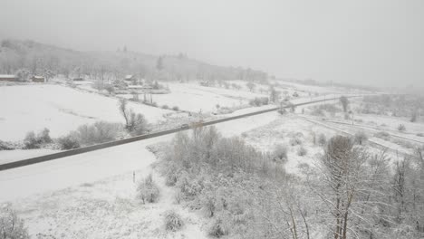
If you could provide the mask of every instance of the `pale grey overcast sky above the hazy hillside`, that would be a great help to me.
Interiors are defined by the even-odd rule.
[[[424,85],[423,0],[0,0],[0,38],[187,53],[279,77]]]

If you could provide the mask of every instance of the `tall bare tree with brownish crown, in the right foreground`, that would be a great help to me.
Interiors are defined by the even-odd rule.
[[[332,215],[329,227],[334,239],[358,237],[360,233],[372,237],[372,225],[389,221],[384,211],[388,196],[381,191],[381,176],[388,175],[386,166],[384,153],[371,158],[350,138],[329,140],[318,167],[323,188],[315,193]]]

